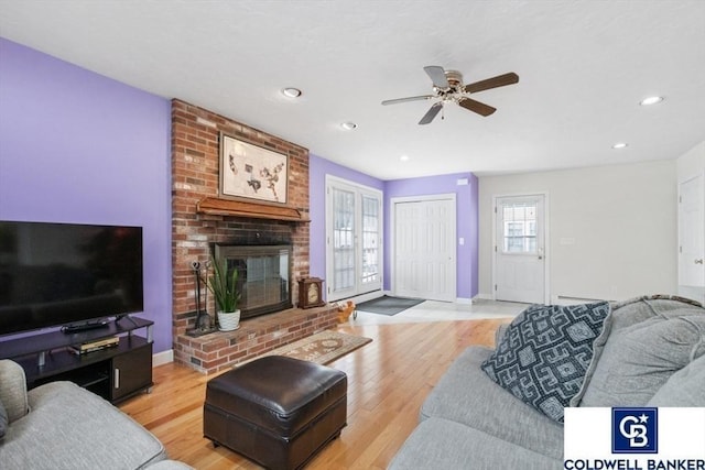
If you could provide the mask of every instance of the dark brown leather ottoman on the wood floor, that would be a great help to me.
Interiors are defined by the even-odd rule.
[[[340,435],[344,372],[283,356],[248,362],[208,381],[204,435],[270,469],[299,469]]]

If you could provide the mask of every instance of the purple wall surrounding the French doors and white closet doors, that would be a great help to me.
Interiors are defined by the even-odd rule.
[[[382,182],[340,166],[325,159],[311,155],[308,164],[311,199],[311,275],[326,276],[325,243],[325,178],[336,176],[383,192],[384,214],[384,285],[391,289],[389,258],[391,232],[390,198],[406,196],[427,196],[455,193],[457,198],[457,237],[465,238],[465,244],[457,247],[457,294],[458,298],[473,298],[478,293],[478,182],[471,173],[430,176],[423,178],[395,179]],[[457,179],[467,178],[467,186],[457,186]]]

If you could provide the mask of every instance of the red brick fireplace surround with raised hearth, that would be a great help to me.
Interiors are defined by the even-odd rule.
[[[243,217],[224,210],[198,209],[205,198],[218,197],[219,133],[289,155],[286,207],[302,220],[278,220],[261,215]],[[213,199],[212,199],[213,200]],[[272,208],[264,206],[267,211]],[[275,210],[274,210],[275,211]],[[295,280],[308,275],[308,151],[274,135],[235,122],[187,102],[172,100],[172,329],[174,361],[203,373],[215,373],[262,352],[334,328],[336,308],[292,308],[241,321],[240,328],[191,337],[196,302],[192,263],[206,262],[210,243],[227,243],[243,234],[283,237],[292,240],[292,300]],[[209,299],[213,296],[209,296]],[[213,302],[208,313],[215,318]]]

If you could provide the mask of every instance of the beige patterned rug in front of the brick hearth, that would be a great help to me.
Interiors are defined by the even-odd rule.
[[[370,341],[372,341],[370,338],[361,336],[325,330],[297,341],[290,342],[281,348],[268,351],[258,356],[256,359],[263,358],[265,356],[288,356],[290,358],[303,359],[304,361],[311,361],[317,364],[327,364],[341,358],[348,352],[355,351]]]

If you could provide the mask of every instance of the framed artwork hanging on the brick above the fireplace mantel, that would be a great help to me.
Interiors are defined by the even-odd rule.
[[[289,157],[220,132],[221,198],[286,204]]]

